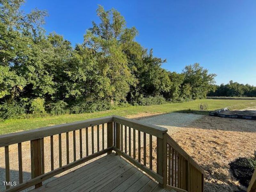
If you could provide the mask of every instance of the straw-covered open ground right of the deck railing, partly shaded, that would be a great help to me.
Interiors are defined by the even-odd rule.
[[[206,192],[246,189],[232,176],[229,163],[253,157],[256,122],[195,114],[170,113],[141,119],[168,133],[205,170]]]

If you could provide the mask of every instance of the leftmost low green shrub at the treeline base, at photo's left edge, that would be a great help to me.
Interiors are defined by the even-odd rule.
[[[2,119],[20,118],[25,113],[24,105],[17,102],[5,102],[0,106],[0,118]]]

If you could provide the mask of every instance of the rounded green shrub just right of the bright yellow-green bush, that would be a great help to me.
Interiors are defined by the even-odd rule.
[[[47,111],[51,115],[63,115],[63,114],[68,114],[69,109],[68,109],[68,103],[60,100],[57,101],[56,103],[50,103],[47,106]]]

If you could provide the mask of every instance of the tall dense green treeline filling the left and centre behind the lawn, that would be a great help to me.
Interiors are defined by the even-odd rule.
[[[97,9],[84,42],[71,46],[56,33],[46,35],[47,12],[23,14],[24,0],[1,0],[1,118],[105,110],[117,105],[150,105],[205,98],[215,74],[199,64],[182,73],[161,68],[165,62],[135,41],[115,9]]]

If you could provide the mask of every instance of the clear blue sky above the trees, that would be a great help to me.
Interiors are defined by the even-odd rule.
[[[83,42],[92,20],[99,22],[98,4],[121,12],[127,27],[138,29],[136,40],[167,59],[163,68],[181,72],[198,62],[217,74],[216,84],[256,85],[255,0],[27,0],[22,9],[47,10],[46,31],[75,45]]]

